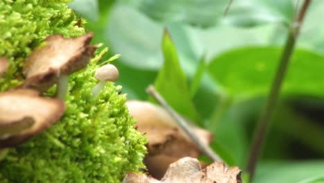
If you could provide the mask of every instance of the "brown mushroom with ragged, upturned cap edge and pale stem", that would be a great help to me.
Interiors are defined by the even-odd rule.
[[[87,66],[96,50],[90,41],[93,33],[65,39],[62,35],[46,37],[44,44],[37,47],[24,64],[26,81],[21,88],[46,91],[57,83],[57,98],[64,99],[70,73]]]

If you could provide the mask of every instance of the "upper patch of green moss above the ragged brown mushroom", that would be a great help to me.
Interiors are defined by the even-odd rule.
[[[0,55],[10,60],[10,69],[0,79],[0,91],[23,80],[21,67],[27,55],[52,34],[76,37],[84,33],[78,19],[66,6],[69,1],[0,1]],[[82,22],[80,22],[82,24]]]

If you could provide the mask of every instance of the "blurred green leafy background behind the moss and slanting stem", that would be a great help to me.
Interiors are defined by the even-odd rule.
[[[300,1],[299,5],[303,1]],[[94,42],[121,54],[129,99],[156,89],[214,133],[212,147],[244,168],[296,0],[75,0]],[[254,182],[324,181],[324,1],[312,1]],[[170,34],[165,35],[167,30]]]

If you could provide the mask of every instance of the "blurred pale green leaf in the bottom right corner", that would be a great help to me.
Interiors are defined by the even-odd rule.
[[[323,175],[324,161],[260,162],[253,183],[296,183]]]

